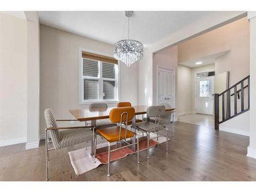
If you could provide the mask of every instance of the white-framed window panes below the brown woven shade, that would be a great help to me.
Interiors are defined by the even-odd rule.
[[[117,100],[117,65],[82,58],[83,101]]]

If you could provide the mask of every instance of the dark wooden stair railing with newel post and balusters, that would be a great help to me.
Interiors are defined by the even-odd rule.
[[[250,110],[250,75],[214,96],[215,129],[231,118]]]

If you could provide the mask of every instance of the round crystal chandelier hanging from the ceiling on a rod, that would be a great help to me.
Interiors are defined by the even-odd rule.
[[[128,17],[128,39],[116,42],[114,54],[114,57],[117,60],[123,61],[128,67],[143,58],[143,44],[137,40],[129,39],[130,17],[132,15],[133,11],[125,11],[125,16]]]

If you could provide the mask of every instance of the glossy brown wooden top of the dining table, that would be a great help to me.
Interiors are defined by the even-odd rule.
[[[133,106],[135,115],[146,114],[147,105]],[[94,108],[94,109],[79,109],[69,110],[69,112],[79,121],[91,121],[98,119],[108,119],[110,111],[116,107],[109,108]],[[165,111],[173,111],[175,108],[166,108]]]

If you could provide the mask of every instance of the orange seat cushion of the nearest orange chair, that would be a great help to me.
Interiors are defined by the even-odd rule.
[[[119,126],[114,126],[105,129],[99,129],[96,131],[99,135],[104,137],[109,142],[119,141]],[[126,138],[131,138],[134,136],[134,133],[127,130]],[[125,129],[121,127],[121,139],[125,139]]]

